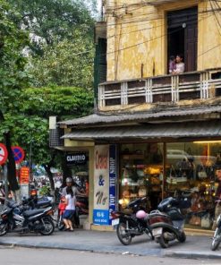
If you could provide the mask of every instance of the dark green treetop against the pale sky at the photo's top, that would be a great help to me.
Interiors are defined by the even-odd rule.
[[[72,39],[73,30],[92,38],[94,20],[89,5],[82,0],[9,0],[21,13],[21,28],[30,31],[30,50],[42,55],[42,44],[49,46],[64,38]],[[91,8],[94,10],[92,1]]]

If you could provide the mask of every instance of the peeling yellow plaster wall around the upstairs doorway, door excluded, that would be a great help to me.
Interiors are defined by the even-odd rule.
[[[177,0],[157,7],[140,0],[111,0],[106,4],[107,81],[166,74],[166,12],[197,4],[198,70],[221,66],[221,11],[217,16],[204,13],[211,10],[208,1]]]

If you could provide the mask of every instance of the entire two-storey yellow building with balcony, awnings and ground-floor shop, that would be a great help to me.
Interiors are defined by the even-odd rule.
[[[147,210],[157,209],[181,192],[191,201],[186,227],[210,229],[221,164],[221,3],[102,3],[96,112],[59,124],[63,150],[89,152],[89,227],[110,228],[111,210],[125,202],[149,196]],[[169,73],[177,55],[184,71]]]

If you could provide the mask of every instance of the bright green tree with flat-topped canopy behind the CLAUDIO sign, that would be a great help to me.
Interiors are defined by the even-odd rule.
[[[93,94],[79,88],[24,89],[19,98],[20,115],[11,116],[14,124],[13,142],[19,143],[31,161],[45,167],[52,192],[55,190],[51,167],[63,167],[64,152],[49,148],[48,117],[62,119],[89,115],[93,109]]]

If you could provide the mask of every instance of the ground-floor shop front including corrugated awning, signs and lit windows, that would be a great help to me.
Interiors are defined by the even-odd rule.
[[[148,196],[150,211],[162,199],[182,195],[191,202],[184,212],[185,227],[211,229],[216,171],[221,167],[219,119],[182,123],[148,123],[147,115],[118,119],[104,115],[76,119],[68,124],[72,131],[63,136],[94,144],[89,157],[90,228],[111,229],[111,211],[125,209],[137,198]]]

